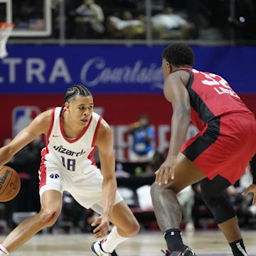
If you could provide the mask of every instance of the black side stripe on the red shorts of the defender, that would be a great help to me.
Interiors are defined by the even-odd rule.
[[[200,154],[211,146],[220,135],[220,117],[217,117],[208,123],[208,128],[202,136],[199,136],[182,153],[191,161],[194,161]]]

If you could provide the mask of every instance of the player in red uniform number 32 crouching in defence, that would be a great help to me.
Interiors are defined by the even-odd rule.
[[[242,176],[256,152],[256,120],[228,82],[192,68],[193,51],[178,43],[162,53],[164,96],[171,102],[171,140],[166,161],[156,171],[151,198],[169,256],[191,256],[183,244],[181,207],[176,194],[201,181],[203,200],[212,211],[233,255],[247,255],[238,219],[223,193]],[[190,119],[199,129],[184,143]],[[256,175],[245,194],[256,195]],[[255,198],[254,201],[255,203]]]

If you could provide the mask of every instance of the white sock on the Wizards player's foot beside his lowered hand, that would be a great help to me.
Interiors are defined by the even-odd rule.
[[[104,238],[102,240],[102,249],[105,252],[113,252],[115,247],[119,245],[119,243],[124,242],[129,238],[124,238],[119,233],[117,233],[117,227],[114,226],[110,232],[109,235],[107,235],[107,238]],[[1,256],[1,255],[0,255]]]

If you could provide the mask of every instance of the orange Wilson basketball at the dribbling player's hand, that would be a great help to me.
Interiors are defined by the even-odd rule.
[[[7,202],[18,195],[21,179],[14,169],[9,166],[0,167],[0,202]]]

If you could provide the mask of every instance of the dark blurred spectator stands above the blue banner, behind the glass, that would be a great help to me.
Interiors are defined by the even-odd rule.
[[[70,39],[144,39],[146,26],[153,39],[255,40],[253,0],[65,0],[65,37]],[[1,7],[1,6],[0,6]],[[60,1],[52,0],[53,34],[60,36]],[[0,8],[1,16],[1,8]],[[14,25],[43,28],[43,1],[14,1]]]

